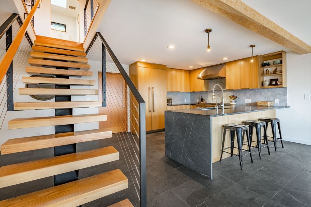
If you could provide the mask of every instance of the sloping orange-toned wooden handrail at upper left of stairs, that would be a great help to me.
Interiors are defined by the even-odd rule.
[[[26,33],[27,27],[31,22],[32,17],[35,15],[35,11],[37,10],[37,7],[40,3],[39,1],[36,1],[34,7],[29,12],[27,18],[25,19],[23,25],[21,26],[20,30],[17,32],[14,40],[12,41],[12,44],[10,45],[9,49],[5,53],[2,61],[0,62],[0,83],[3,81],[4,76],[7,73],[7,70],[9,66],[11,65],[11,62],[14,58],[14,55],[18,49],[18,47],[21,44],[21,41]]]

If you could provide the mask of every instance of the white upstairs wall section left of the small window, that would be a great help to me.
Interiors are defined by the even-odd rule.
[[[40,2],[40,8],[35,13],[35,32],[37,35],[51,37],[51,0]]]

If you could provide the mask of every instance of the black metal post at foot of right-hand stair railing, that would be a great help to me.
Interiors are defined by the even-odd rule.
[[[139,103],[140,206],[147,206],[146,103]]]

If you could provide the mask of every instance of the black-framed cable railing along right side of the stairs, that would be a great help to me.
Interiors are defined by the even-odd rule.
[[[117,150],[125,160],[131,190],[140,205],[146,206],[145,101],[99,32],[86,53],[110,122],[107,127],[111,127],[118,140]]]

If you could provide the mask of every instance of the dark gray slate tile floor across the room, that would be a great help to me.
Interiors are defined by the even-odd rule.
[[[239,169],[238,157],[229,157],[213,164],[213,180],[164,155],[164,132],[148,134],[147,139],[147,197],[148,206],[311,206],[311,146],[284,141],[271,155],[262,150],[259,159],[253,148],[254,163],[249,156],[243,158],[244,170]],[[134,142],[127,142],[133,144]],[[272,143],[271,143],[272,144]],[[280,146],[280,143],[278,143]],[[118,161],[81,169],[79,177],[90,177],[113,169],[121,169],[129,178],[129,188],[83,206],[108,206],[128,198],[139,206],[126,163],[135,159],[122,154],[118,138],[77,144],[78,151],[114,146],[120,152]],[[126,145],[124,145],[126,146]],[[129,145],[132,146],[132,145]],[[135,145],[133,145],[135,147]],[[123,148],[124,149],[124,148]],[[130,148],[132,149],[132,148]],[[134,150],[131,150],[134,154]],[[136,150],[137,152],[137,150]],[[53,156],[53,148],[0,156],[0,165],[26,162]],[[129,162],[130,161],[130,162]],[[130,169],[132,169],[130,167]],[[134,181],[133,181],[134,180]],[[53,177],[47,177],[0,189],[0,200],[38,191],[53,186]]]

